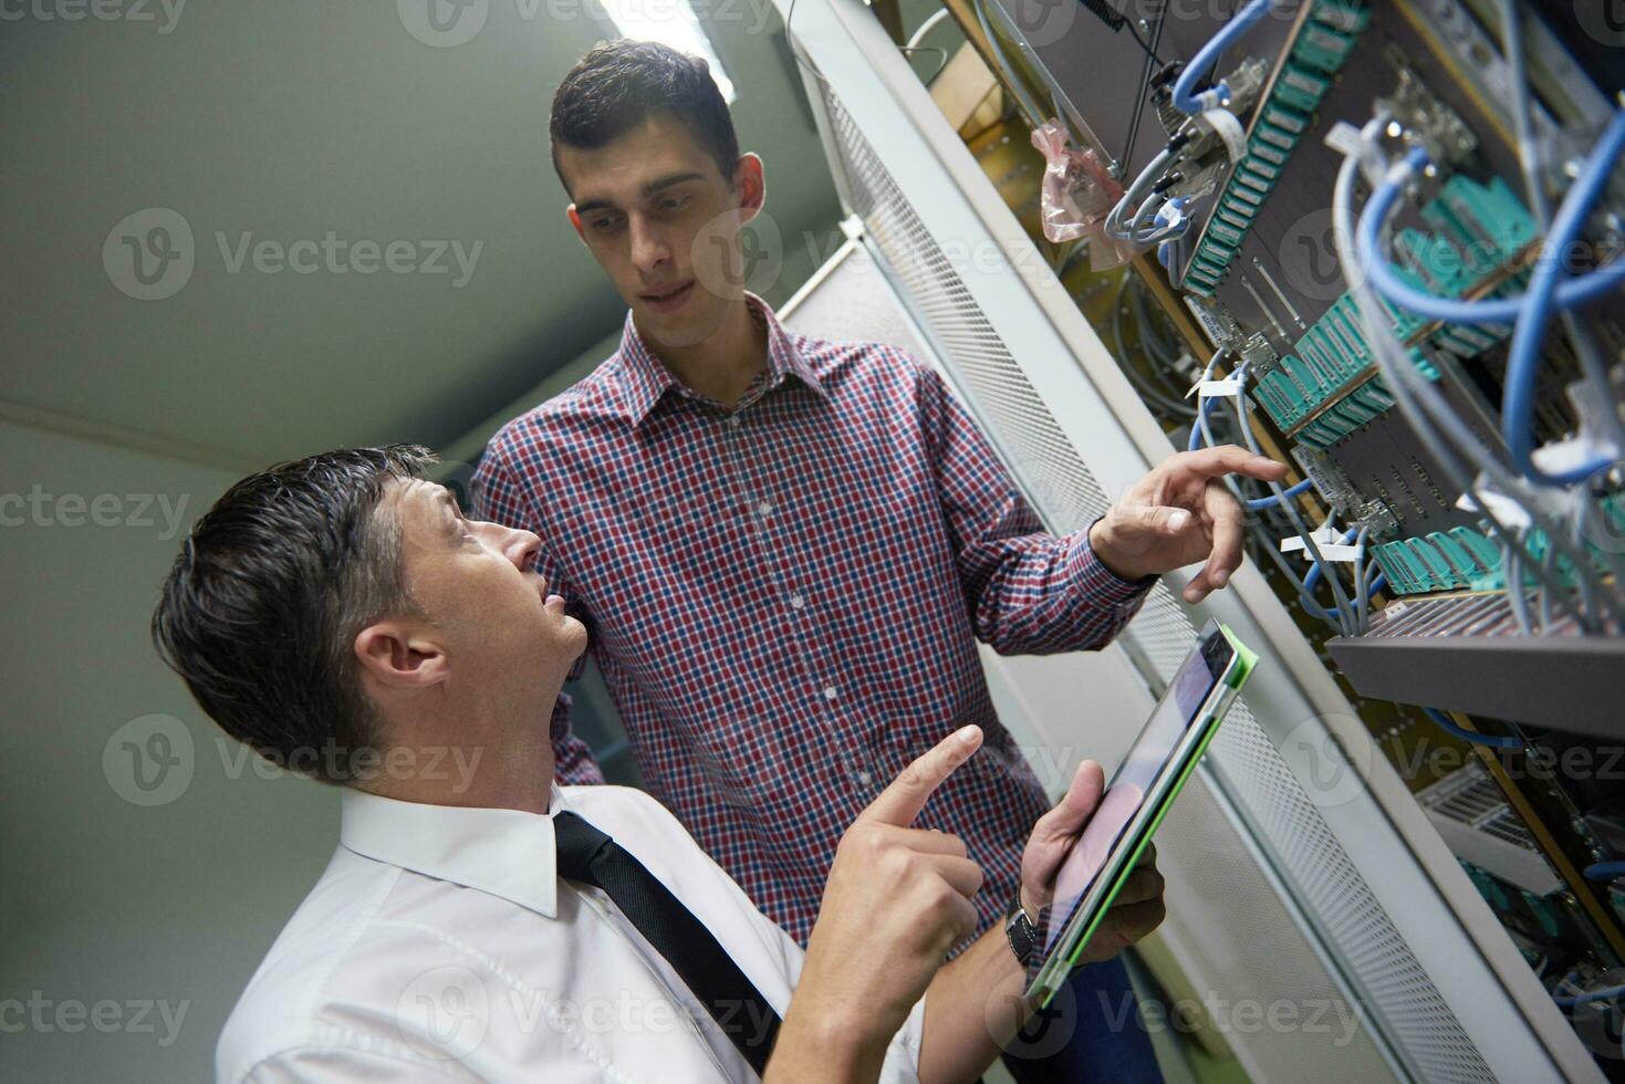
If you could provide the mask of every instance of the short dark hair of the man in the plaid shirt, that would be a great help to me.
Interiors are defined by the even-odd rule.
[[[739,137],[710,65],[670,46],[618,37],[598,42],[559,83],[552,96],[552,169],[559,184],[570,182],[559,169],[559,146],[598,150],[621,138],[655,114],[681,120],[733,187],[739,163]]]

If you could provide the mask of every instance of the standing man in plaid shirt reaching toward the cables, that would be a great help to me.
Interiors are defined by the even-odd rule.
[[[630,312],[613,358],[491,440],[473,501],[541,538],[645,783],[804,941],[843,827],[977,725],[986,769],[947,780],[925,822],[959,826],[986,871],[978,928],[1037,920],[1017,874],[1046,803],[975,640],[1098,648],[1162,572],[1206,561],[1191,601],[1224,587],[1242,512],[1220,475],[1285,468],[1176,455],[1087,531],[1045,535],[934,371],[790,335],[736,286],[762,163],[704,60],[598,46],[559,86],[551,137],[570,223]],[[601,780],[567,697],[552,735],[561,778]],[[1126,980],[1100,977],[1095,1016],[1121,1019]],[[1138,1050],[1121,1076],[1155,1073],[1142,1032],[1112,1042]]]

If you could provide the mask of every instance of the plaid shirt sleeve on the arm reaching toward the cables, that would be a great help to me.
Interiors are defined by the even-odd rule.
[[[1087,528],[1046,533],[941,374],[915,364],[920,423],[977,639],[999,655],[1110,644],[1157,577],[1112,572]]]

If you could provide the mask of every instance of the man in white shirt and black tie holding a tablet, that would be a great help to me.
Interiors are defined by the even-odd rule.
[[[554,785],[541,720],[585,631],[536,536],[465,518],[426,462],[395,445],[254,475],[164,583],[154,642],[198,704],[344,788],[340,847],[228,1021],[218,1079],[975,1079],[1025,970],[998,931],[942,965],[982,871],[910,824],[980,731],[855,819],[803,957],[658,803]],[[1035,902],[1100,790],[1086,764],[1035,826]],[[1134,876],[1100,952],[1162,918],[1155,869]]]

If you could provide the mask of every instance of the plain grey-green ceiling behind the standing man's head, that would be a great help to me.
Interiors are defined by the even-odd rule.
[[[0,410],[249,466],[439,447],[619,325],[546,146],[557,80],[611,34],[580,15],[595,5],[473,0],[479,34],[431,47],[403,15],[421,0],[184,3],[169,33],[159,0],[101,3],[120,18],[31,0],[0,24]],[[741,145],[767,163],[769,210],[790,247],[826,237],[838,203],[777,15],[765,0],[707,8],[738,15],[710,29]],[[136,288],[117,237],[112,273],[104,260],[114,228],[146,208],[193,236],[190,278],[164,280],[184,286],[159,301],[115,284]],[[481,247],[462,286],[450,249],[436,275],[335,273],[320,250],[289,252],[314,257],[310,273],[273,271],[275,250],[255,268],[252,245],[328,231],[340,267],[382,263],[390,242],[411,242],[396,268],[429,258],[437,245],[421,242],[460,242],[465,260]],[[351,255],[354,242],[380,252]]]

